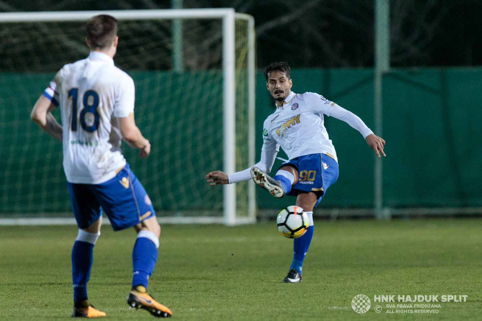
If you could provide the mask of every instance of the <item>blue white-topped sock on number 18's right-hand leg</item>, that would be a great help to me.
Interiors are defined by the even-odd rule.
[[[158,256],[159,239],[151,231],[140,231],[132,250],[132,287],[143,285],[147,289],[149,276],[154,271]]]

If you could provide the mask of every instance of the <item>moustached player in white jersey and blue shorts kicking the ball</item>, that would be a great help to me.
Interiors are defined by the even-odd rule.
[[[294,257],[283,282],[301,282],[303,260],[313,236],[313,209],[331,184],[338,178],[338,160],[335,147],[328,138],[323,124],[323,114],[347,122],[357,129],[375,154],[385,156],[385,141],[375,136],[355,114],[314,92],[296,94],[291,91],[293,82],[286,63],[273,63],[265,68],[266,86],[276,100],[276,111],[268,116],[263,128],[263,148],[259,163],[241,172],[227,175],[214,171],[206,175],[211,185],[232,184],[253,180],[275,197],[296,196],[296,205],[309,217],[309,228],[294,240]],[[281,148],[289,161],[283,163],[271,178],[273,167]]]

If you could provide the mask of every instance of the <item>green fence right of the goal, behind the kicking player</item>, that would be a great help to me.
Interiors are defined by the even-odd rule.
[[[318,92],[374,128],[371,69],[297,69],[291,77],[296,93]],[[482,68],[394,68],[383,84],[383,205],[482,206]],[[256,94],[259,157],[263,121],[274,110],[262,75]],[[373,151],[346,123],[325,117],[325,126],[340,176],[319,206],[373,207]],[[258,189],[260,208],[294,202]]]

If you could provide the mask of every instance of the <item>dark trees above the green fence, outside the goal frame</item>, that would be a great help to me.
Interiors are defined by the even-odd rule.
[[[375,0],[184,0],[254,16],[258,65],[373,66]],[[170,0],[0,0],[0,11],[167,9]],[[482,64],[482,1],[390,0],[392,66]]]

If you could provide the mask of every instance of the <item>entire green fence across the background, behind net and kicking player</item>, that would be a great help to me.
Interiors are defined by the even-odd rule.
[[[219,211],[221,188],[211,188],[203,176],[222,168],[220,74],[131,75],[136,84],[136,122],[153,143],[153,154],[139,160],[135,151],[124,150],[156,210]],[[70,210],[61,143],[28,118],[52,77],[0,74],[0,213]],[[371,69],[295,69],[292,79],[296,93],[318,92],[374,128]],[[482,206],[481,82],[482,68],[393,69],[385,75],[384,206]],[[183,95],[186,90],[189,95]],[[263,121],[273,111],[274,101],[259,73],[257,159]],[[373,151],[348,124],[325,117],[325,126],[336,148],[340,176],[320,206],[372,207]],[[286,158],[282,152],[279,156]],[[280,164],[277,160],[274,170]],[[277,200],[256,190],[260,209],[295,202],[294,197]]]

